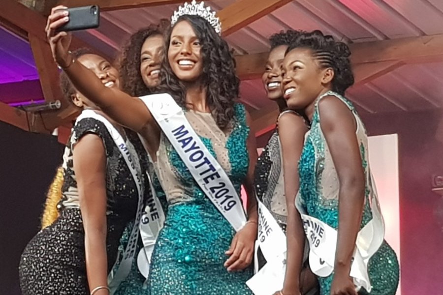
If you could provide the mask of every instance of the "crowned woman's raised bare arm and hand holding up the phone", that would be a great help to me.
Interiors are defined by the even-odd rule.
[[[121,90],[105,87],[92,71],[72,58],[68,51],[71,35],[56,31],[68,20],[65,6],[52,8],[46,25],[46,34],[54,60],[63,68],[75,88],[108,116],[136,132],[140,132],[147,124],[154,124],[154,119],[140,99],[131,97]]]

